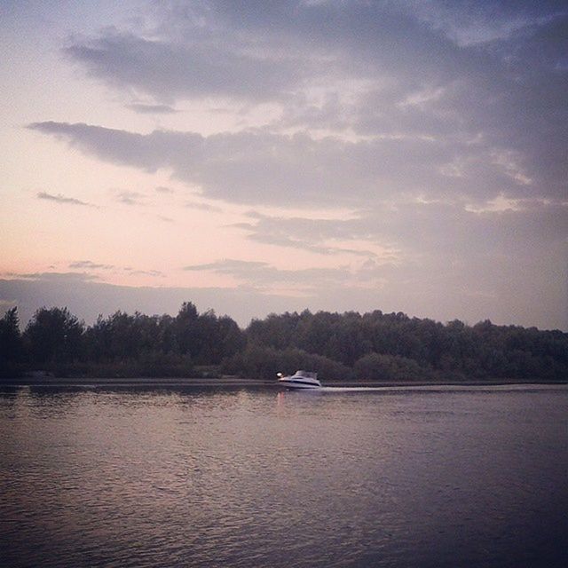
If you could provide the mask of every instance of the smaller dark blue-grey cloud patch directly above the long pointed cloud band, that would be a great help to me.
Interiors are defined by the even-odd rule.
[[[201,41],[179,43],[107,29],[99,37],[73,41],[65,52],[91,76],[157,100],[278,98],[305,67],[299,53],[279,57],[252,51],[251,43],[239,43],[234,35],[220,39],[201,35]]]

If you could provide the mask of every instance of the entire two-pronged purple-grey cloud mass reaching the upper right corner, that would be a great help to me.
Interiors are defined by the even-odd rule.
[[[113,88],[154,99],[137,103],[146,110],[218,99],[233,112],[270,102],[280,116],[208,137],[31,128],[239,203],[568,193],[562,4],[209,1],[152,14],[143,33],[106,28],[66,52]]]

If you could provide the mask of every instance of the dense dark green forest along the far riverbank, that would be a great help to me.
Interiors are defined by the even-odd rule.
[[[271,314],[242,330],[187,302],[176,317],[115,312],[85,326],[42,308],[23,333],[16,308],[0,319],[0,376],[218,376],[270,379],[297,368],[325,380],[540,380],[568,377],[568,334],[489,320],[446,325],[375,311]]]

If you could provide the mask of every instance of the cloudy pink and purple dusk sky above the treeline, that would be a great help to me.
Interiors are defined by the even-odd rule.
[[[0,312],[568,331],[568,5],[0,0]]]

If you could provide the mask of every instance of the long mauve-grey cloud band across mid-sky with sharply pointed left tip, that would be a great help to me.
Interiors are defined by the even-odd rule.
[[[511,175],[514,163],[497,159],[485,147],[454,140],[349,142],[264,130],[209,137],[171,130],[138,134],[67,122],[38,122],[29,128],[65,138],[107,162],[146,171],[170,169],[185,183],[199,185],[206,197],[235,203],[321,207],[333,201],[357,208],[397,194],[486,201],[500,193],[545,196],[550,189],[528,188],[525,177]],[[452,167],[457,173],[448,174]]]

